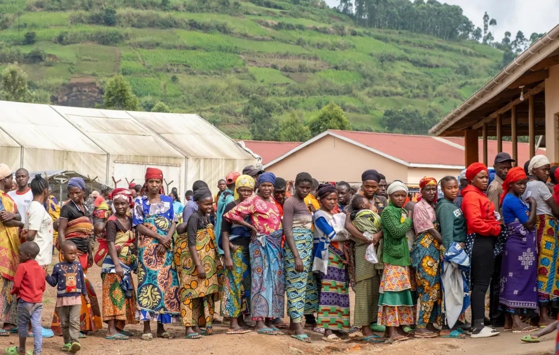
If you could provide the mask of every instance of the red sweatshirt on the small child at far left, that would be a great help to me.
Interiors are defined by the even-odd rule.
[[[45,286],[45,270],[36,260],[27,260],[17,267],[10,294],[29,303],[41,303]]]

